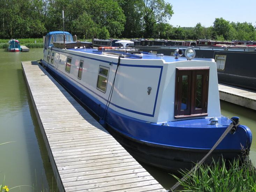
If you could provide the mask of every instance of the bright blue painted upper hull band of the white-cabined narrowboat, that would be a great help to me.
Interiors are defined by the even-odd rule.
[[[86,90],[69,81],[64,75],[56,72],[55,69],[49,67],[47,69],[76,98],[88,106],[90,110],[99,117],[103,116],[105,104],[98,101]],[[199,126],[189,127],[187,126],[188,121],[197,121]],[[220,121],[222,124],[226,123],[226,125],[230,123],[225,117],[221,117]],[[170,122],[174,126],[161,126],[160,124],[146,123],[145,121],[125,116],[110,108],[108,108],[106,122],[113,130],[126,135],[128,138],[145,142],[149,145],[171,147],[177,150],[209,150],[227,128],[227,126],[209,128],[206,126],[209,124],[209,120],[204,118]],[[181,126],[183,122],[184,125]],[[204,127],[202,127],[203,125]],[[236,133],[233,135],[228,134],[217,149],[241,150],[240,143],[246,148],[251,143],[251,141],[248,141],[250,135],[251,132],[248,127],[239,126]]]

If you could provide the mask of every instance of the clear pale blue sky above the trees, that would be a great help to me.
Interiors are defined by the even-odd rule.
[[[256,0],[164,0],[173,5],[168,23],[181,27],[213,26],[215,18],[256,25]]]

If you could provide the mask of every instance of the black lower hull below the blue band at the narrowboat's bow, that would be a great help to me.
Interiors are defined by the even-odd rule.
[[[179,170],[191,169],[195,163],[209,152],[203,149],[175,148],[152,143],[146,143],[127,137],[118,132],[115,128],[107,126],[107,131],[129,152],[137,161],[158,167],[171,172]],[[232,160],[240,158],[243,160],[243,155],[240,150],[214,150],[214,152],[205,161],[206,164],[211,164],[212,160],[218,161],[220,158]]]

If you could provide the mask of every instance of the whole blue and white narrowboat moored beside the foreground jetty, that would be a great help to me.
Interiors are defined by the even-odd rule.
[[[216,62],[143,53],[136,49],[53,46],[64,32],[45,38],[41,61],[138,161],[167,170],[189,169],[209,152],[232,120],[221,116]],[[75,45],[65,32],[66,44]],[[65,43],[64,43],[65,44]],[[56,44],[58,45],[58,44]],[[212,158],[248,154],[250,129],[237,126]]]

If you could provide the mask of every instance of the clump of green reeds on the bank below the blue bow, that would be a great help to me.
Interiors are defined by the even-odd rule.
[[[187,172],[182,171],[182,176]],[[173,175],[183,187],[181,191],[207,192],[256,192],[256,168],[250,160],[226,162],[221,160],[212,165],[202,165],[184,182]]]

